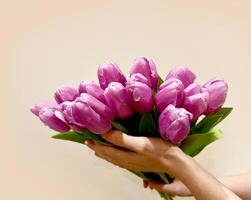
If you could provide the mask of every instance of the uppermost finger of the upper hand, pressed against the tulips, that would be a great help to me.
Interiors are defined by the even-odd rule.
[[[140,153],[152,146],[146,137],[134,137],[118,130],[112,130],[101,136],[108,142]]]

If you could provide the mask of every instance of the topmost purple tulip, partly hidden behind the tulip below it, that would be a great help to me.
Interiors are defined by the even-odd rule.
[[[158,85],[158,73],[156,66],[152,59],[148,59],[145,57],[139,57],[135,59],[131,70],[130,76],[133,74],[140,73],[148,80],[148,84],[150,88],[156,89]],[[140,81],[141,82],[141,81]]]

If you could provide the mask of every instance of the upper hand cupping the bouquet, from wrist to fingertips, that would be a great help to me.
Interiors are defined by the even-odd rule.
[[[102,134],[116,147],[87,141],[95,155],[119,167],[141,172],[167,172],[178,174],[180,163],[186,155],[179,147],[160,138],[134,137],[120,131]]]

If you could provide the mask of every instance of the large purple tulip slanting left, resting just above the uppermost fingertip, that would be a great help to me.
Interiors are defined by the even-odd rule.
[[[82,93],[72,106],[74,124],[86,127],[91,132],[102,134],[108,132],[112,126],[112,111],[95,97]]]

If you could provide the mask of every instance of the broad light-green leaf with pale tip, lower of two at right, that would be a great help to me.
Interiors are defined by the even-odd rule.
[[[182,143],[180,148],[190,156],[196,156],[207,145],[223,137],[222,131],[213,129],[208,133],[189,135]]]

